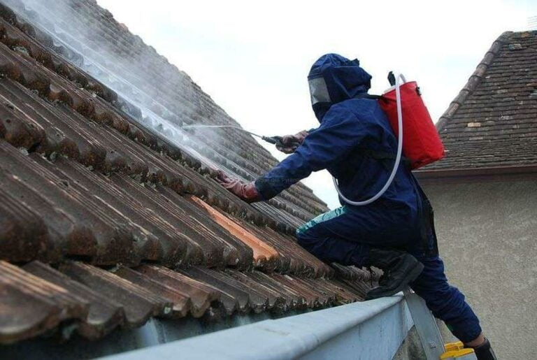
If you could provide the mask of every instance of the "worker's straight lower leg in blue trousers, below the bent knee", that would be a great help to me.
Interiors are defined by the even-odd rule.
[[[447,283],[444,264],[438,256],[414,254],[424,270],[410,287],[427,303],[427,307],[463,343],[470,343],[481,334],[479,319],[464,301],[464,295],[456,287]]]

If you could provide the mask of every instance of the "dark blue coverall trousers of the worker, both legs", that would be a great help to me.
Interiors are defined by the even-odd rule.
[[[410,287],[459,340],[468,343],[477,338],[481,333],[478,317],[464,301],[464,295],[447,283],[442,259],[423,250],[420,233],[409,237],[405,231],[387,231],[374,219],[371,214],[363,215],[359,209],[343,206],[310,220],[296,231],[296,236],[303,248],[327,263],[368,266],[371,247],[408,251],[424,265]],[[434,235],[429,231],[429,247],[433,241]]]

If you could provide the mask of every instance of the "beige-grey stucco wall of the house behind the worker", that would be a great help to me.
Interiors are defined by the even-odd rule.
[[[537,182],[424,185],[447,278],[499,359],[537,350]]]

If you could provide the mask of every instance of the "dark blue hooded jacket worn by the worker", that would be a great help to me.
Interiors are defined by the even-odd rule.
[[[262,199],[271,199],[312,171],[322,169],[338,180],[341,192],[352,201],[374,196],[389,177],[393,160],[380,161],[366,155],[366,150],[397,151],[394,131],[378,101],[357,98],[371,87],[371,75],[361,69],[358,60],[328,54],[313,64],[308,75],[310,81],[319,78],[324,79],[328,93],[327,99],[313,105],[320,127],[306,136],[296,152],[255,181]],[[415,222],[420,207],[418,186],[401,161],[392,185],[380,199],[368,206],[348,208],[366,211],[380,206],[389,209],[387,217],[392,220],[400,215],[401,221]]]

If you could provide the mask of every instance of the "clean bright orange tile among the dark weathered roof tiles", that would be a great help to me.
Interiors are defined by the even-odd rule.
[[[220,213],[220,211],[212,208],[205,201],[199,199],[197,196],[190,196],[190,199],[205,209],[210,217],[217,222],[217,224],[252,248],[254,252],[254,264],[261,264],[264,261],[273,261],[280,257],[280,254],[278,254],[273,247],[264,243],[253,233],[243,228],[243,226],[240,224],[237,224],[233,220],[229,219],[229,217]]]

